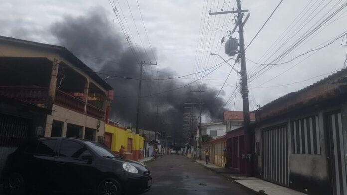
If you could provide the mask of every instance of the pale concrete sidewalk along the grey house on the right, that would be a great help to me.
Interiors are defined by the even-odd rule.
[[[219,173],[229,179],[232,179],[234,182],[241,184],[249,189],[252,189],[256,192],[263,193],[265,195],[307,195],[280,185],[267,182],[265,180],[255,178],[255,177],[244,177],[237,173],[232,173],[231,170],[216,166],[214,164],[207,164],[205,161],[196,160],[200,165]],[[229,172],[227,172],[229,170]]]

